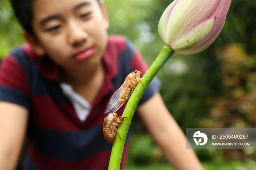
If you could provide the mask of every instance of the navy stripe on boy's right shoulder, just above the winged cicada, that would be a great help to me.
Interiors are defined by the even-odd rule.
[[[131,70],[134,48],[130,40],[126,39],[126,41],[127,48],[118,55],[118,75],[113,80],[114,88],[121,86],[127,75],[134,71]]]

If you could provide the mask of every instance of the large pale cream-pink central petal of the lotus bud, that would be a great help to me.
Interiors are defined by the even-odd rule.
[[[186,34],[203,20],[210,18],[221,0],[179,0],[168,20],[167,44]]]

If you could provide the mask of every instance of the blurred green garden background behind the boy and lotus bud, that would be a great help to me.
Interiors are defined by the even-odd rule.
[[[148,65],[164,43],[158,22],[172,0],[105,0],[109,34],[127,36]],[[0,58],[24,43],[8,0],[0,0]],[[201,53],[174,54],[158,73],[161,94],[182,130],[256,128],[256,1],[233,0],[223,30]],[[157,114],[157,113],[155,113]],[[127,170],[172,169],[133,117]],[[256,169],[256,150],[195,150],[206,170]]]

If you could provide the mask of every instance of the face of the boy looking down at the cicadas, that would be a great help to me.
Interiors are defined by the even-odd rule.
[[[108,27],[106,8],[97,0],[35,0],[32,28],[37,40],[29,42],[64,69],[79,69],[101,61]]]

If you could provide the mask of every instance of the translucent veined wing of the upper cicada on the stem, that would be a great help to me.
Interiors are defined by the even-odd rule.
[[[128,85],[129,81],[125,81],[124,84],[121,85],[121,87],[117,89],[116,92],[114,92],[109,100],[105,113],[107,113],[108,115],[114,113],[124,104],[118,104],[118,101],[120,100],[121,95],[124,93],[124,90],[127,89]]]

